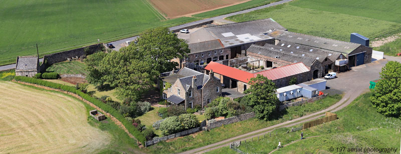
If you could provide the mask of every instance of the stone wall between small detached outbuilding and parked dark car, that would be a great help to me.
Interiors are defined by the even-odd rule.
[[[45,61],[47,62],[47,65],[51,65],[53,63],[57,62],[62,62],[67,60],[67,58],[72,58],[72,57],[81,57],[82,55],[85,55],[84,48],[89,47],[90,53],[92,54],[96,50],[102,49],[103,44],[94,44],[90,46],[85,46],[81,48],[76,48],[68,51],[63,51],[63,52],[57,52],[57,53],[52,53],[52,54],[46,54],[44,56]]]

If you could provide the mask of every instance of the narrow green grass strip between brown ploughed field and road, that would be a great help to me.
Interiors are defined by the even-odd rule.
[[[241,10],[248,9],[248,8],[253,8],[253,7],[266,5],[266,4],[269,4],[269,3],[272,3],[272,2],[276,2],[276,1],[280,1],[280,0],[251,0],[251,1],[247,1],[247,2],[241,3],[241,4],[228,6],[228,7],[224,7],[224,8],[219,8],[219,9],[215,9],[215,10],[211,10],[211,11],[195,14],[195,15],[192,15],[192,16],[196,16],[196,17],[213,17],[213,16],[228,14],[228,13],[232,13],[232,12],[236,12],[236,11],[241,11]]]

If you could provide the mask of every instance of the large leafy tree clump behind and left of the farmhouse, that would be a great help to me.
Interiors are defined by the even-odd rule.
[[[125,99],[138,100],[155,86],[161,72],[177,66],[173,58],[182,58],[189,52],[185,40],[179,39],[166,27],[149,29],[139,35],[137,43],[103,55],[88,56],[88,79],[92,83],[110,83]]]

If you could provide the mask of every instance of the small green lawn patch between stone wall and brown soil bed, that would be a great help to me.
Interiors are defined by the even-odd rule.
[[[86,76],[88,75],[88,71],[85,70],[85,67],[85,63],[74,60],[52,64],[46,71],[55,71],[59,74],[83,74]]]

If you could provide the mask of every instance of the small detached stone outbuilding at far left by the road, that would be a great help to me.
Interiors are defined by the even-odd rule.
[[[35,76],[39,72],[38,56],[18,56],[16,76]]]

